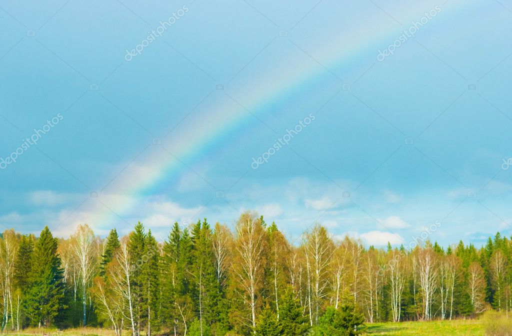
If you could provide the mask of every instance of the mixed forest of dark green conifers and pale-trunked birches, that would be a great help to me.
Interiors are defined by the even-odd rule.
[[[512,310],[512,240],[482,247],[365,246],[319,223],[291,243],[246,212],[228,226],[169,225],[159,241],[87,224],[67,239],[6,230],[0,240],[2,330],[77,326],[121,334],[338,334],[364,322],[474,318]],[[334,326],[334,327],[333,327]],[[281,329],[280,329],[281,328]],[[352,329],[352,331],[350,331]]]

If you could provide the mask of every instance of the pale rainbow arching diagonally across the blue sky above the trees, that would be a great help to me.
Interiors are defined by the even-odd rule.
[[[464,6],[469,5],[469,3],[471,2],[465,2]],[[348,68],[353,77],[361,74],[369,65],[364,65],[365,68],[362,65],[355,65],[358,56],[362,53],[371,54],[373,52],[375,53],[375,61],[378,63],[376,59],[378,50],[393,43],[401,32],[410,26],[412,20],[418,20],[423,16],[425,10],[431,9],[418,9],[414,5],[407,6],[409,7],[400,6],[390,10],[393,13],[400,13],[400,17],[409,18],[407,22],[405,20],[402,22],[404,26],[400,27],[397,22],[375,8],[375,11],[369,13],[365,20],[355,23],[351,31],[344,31],[343,36],[337,38],[329,36],[328,40],[325,41],[326,45],[315,46],[315,50],[322,51],[321,57],[315,57],[322,65],[332,71]],[[439,16],[446,15],[448,11],[460,9],[460,6],[459,8],[452,7],[452,9],[442,8]],[[377,26],[376,23],[382,27],[378,32],[372,29],[372,27]],[[425,30],[427,29],[430,28],[425,28]],[[284,39],[286,38],[284,37]],[[293,37],[290,36],[290,39],[293,40]],[[274,40],[273,43],[276,43],[276,41]],[[293,47],[291,44],[290,46]],[[316,52],[315,55],[318,55],[318,53]],[[326,69],[314,60],[310,59],[311,61],[305,62],[305,57],[308,56],[296,48],[289,57],[282,57],[272,62],[267,69],[262,71],[262,78],[258,82],[264,82],[265,85],[247,81],[242,85],[237,85],[237,88],[226,86],[225,92],[236,98],[249,111],[260,112],[260,116],[265,116],[264,111],[268,104],[293,97],[293,94],[300,92],[325,76]],[[378,66],[378,64],[375,66]],[[348,77],[346,72],[344,77]],[[236,80],[241,78],[243,78],[243,73],[239,74]],[[228,134],[232,134],[248,122],[259,122],[227,96],[222,95],[225,99],[219,99],[219,96],[216,96],[217,99],[214,97],[214,99],[207,99],[203,102],[198,110],[191,113],[179,127],[169,134],[167,139],[164,139],[166,148],[180,160],[194,161],[206,149],[222,142]],[[210,102],[210,100],[215,101]],[[170,127],[173,127],[173,125],[170,125]],[[190,132],[190,130],[194,130],[194,132]],[[170,140],[174,142],[168,143]],[[146,152],[148,154],[144,153],[144,166],[139,166],[137,169],[127,168],[105,188],[105,194],[125,195],[127,197],[107,199],[108,209],[103,205],[95,204],[91,211],[100,214],[98,214],[99,217],[97,217],[93,226],[104,227],[110,225],[113,221],[118,220],[116,219],[117,216],[122,216],[137,205],[137,196],[147,195],[159,181],[178,176],[180,172],[186,169],[179,160],[163,152],[162,149],[158,149],[157,146],[151,146]],[[247,164],[250,165],[250,160]]]

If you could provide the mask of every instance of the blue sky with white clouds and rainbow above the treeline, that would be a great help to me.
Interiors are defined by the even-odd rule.
[[[512,0],[0,0],[0,227],[510,236],[511,38]]]

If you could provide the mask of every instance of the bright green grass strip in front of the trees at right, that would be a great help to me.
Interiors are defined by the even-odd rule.
[[[481,320],[368,324],[367,335],[382,336],[483,336]]]

